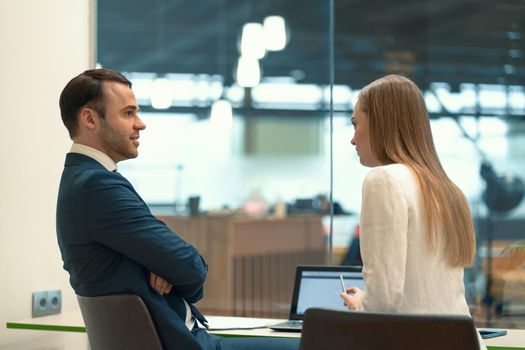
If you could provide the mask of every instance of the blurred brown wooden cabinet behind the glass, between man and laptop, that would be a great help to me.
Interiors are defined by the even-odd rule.
[[[159,216],[209,265],[207,314],[286,317],[299,264],[325,263],[321,217]]]

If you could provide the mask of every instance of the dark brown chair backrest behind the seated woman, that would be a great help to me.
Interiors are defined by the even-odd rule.
[[[478,350],[468,316],[309,309],[301,350]]]

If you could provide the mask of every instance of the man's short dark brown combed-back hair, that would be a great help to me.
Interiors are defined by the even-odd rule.
[[[77,75],[67,83],[60,94],[60,114],[62,122],[73,138],[78,129],[78,112],[82,107],[94,109],[102,118],[106,115],[104,100],[104,81],[126,84],[131,89],[131,82],[119,72],[110,69],[90,69]]]

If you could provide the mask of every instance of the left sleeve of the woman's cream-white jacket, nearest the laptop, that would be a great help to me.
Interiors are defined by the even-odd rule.
[[[399,180],[382,168],[363,183],[360,244],[366,292],[359,309],[397,311],[405,284],[408,209]]]

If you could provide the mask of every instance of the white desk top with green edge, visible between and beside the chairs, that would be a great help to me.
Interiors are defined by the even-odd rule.
[[[209,321],[210,333],[224,336],[255,336],[255,337],[290,337],[298,338],[300,333],[275,332],[265,327],[282,321],[274,318],[251,318],[229,316],[206,316]],[[80,311],[62,313],[59,315],[30,318],[16,322],[7,322],[10,329],[30,329],[61,332],[86,332]],[[248,328],[256,329],[248,329]],[[234,329],[229,329],[234,328]],[[244,329],[243,329],[244,328]],[[485,339],[488,349],[516,350],[525,349],[525,330],[509,329],[507,335]]]

